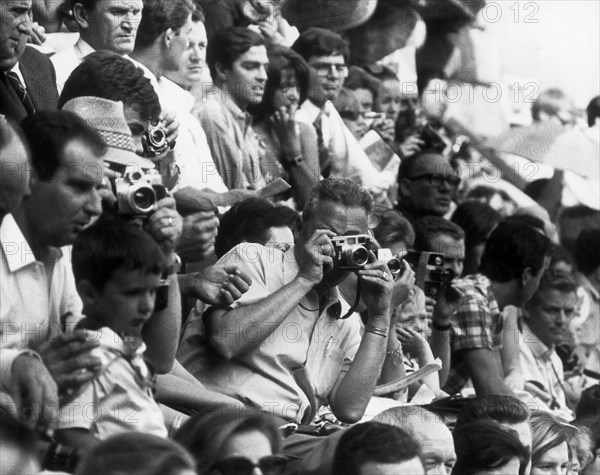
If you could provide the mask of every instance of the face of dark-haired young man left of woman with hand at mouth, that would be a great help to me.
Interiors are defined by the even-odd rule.
[[[265,92],[268,65],[267,48],[252,46],[228,69],[217,63],[219,86],[240,109],[245,109],[249,104],[258,104]]]

